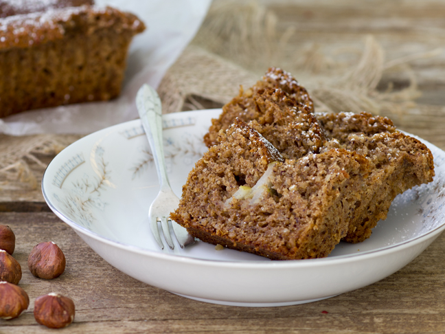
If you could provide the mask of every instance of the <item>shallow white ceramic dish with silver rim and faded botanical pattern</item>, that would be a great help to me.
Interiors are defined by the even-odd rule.
[[[181,196],[188,172],[207,150],[202,137],[220,109],[165,115],[170,183]],[[407,265],[445,229],[445,153],[436,176],[398,196],[386,221],[359,244],[340,243],[328,258],[271,261],[198,242],[161,251],[148,208],[159,185],[139,120],[98,131],[49,164],[42,189],[49,207],[111,265],[181,296],[237,306],[280,306],[329,298],[385,278]],[[168,248],[168,247],[166,247]]]

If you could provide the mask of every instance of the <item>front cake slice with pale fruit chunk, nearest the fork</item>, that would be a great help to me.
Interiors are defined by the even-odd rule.
[[[284,162],[240,120],[219,135],[171,218],[201,241],[274,260],[328,256],[361,201],[367,159],[332,149]]]

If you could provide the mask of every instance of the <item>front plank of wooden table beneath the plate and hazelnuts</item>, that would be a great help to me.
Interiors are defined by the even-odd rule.
[[[151,287],[111,267],[71,228],[49,212],[2,212],[16,234],[14,258],[23,269],[19,286],[30,307],[0,320],[0,333],[54,333],[32,314],[36,297],[69,296],[76,318],[69,333],[442,333],[445,329],[445,234],[412,263],[373,285],[290,307],[228,307],[196,302]],[[54,241],[67,258],[54,280],[32,276],[27,256]]]

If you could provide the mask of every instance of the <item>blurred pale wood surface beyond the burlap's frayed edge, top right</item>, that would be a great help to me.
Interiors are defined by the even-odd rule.
[[[293,27],[288,47],[317,43],[328,55],[363,48],[372,34],[385,50],[385,60],[437,50],[430,58],[410,62],[422,89],[443,92],[445,87],[445,1],[443,0],[278,0],[263,1],[277,15],[277,30]],[[286,52],[283,50],[282,52]],[[402,78],[400,78],[402,80]],[[407,77],[404,78],[407,80]],[[399,82],[404,85],[404,82]],[[440,98],[440,96],[442,98]],[[422,102],[444,105],[439,94]]]

